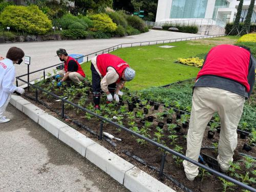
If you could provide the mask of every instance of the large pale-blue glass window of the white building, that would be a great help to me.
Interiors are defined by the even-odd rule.
[[[204,18],[208,0],[173,0],[170,18]]]

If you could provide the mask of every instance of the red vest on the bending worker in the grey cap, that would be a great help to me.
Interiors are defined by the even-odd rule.
[[[97,56],[97,67],[103,77],[108,72],[108,67],[113,67],[119,75],[119,78],[116,82],[119,82],[122,77],[123,70],[129,67],[129,65],[118,56],[111,54],[101,54]]]

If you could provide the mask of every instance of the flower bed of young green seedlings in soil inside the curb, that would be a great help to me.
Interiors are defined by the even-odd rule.
[[[56,81],[53,82],[52,80],[53,79],[41,80],[36,82],[36,84],[62,98],[68,97],[67,100],[87,108],[88,110],[107,119],[117,122],[118,124],[129,127],[130,130],[147,138],[153,139],[181,154],[185,153],[189,114],[183,113],[180,110],[181,105],[180,108],[179,105],[176,105],[178,109],[174,110],[169,108],[167,104],[165,106],[158,105],[157,103],[150,102],[145,99],[138,99],[126,92],[119,103],[105,104],[105,96],[102,96],[101,110],[94,111],[90,87],[84,87],[82,84],[76,87],[65,82],[63,83],[63,87],[57,88]],[[29,96],[34,97],[34,91],[35,90],[31,88],[30,91],[26,90],[26,93]],[[56,98],[38,91],[38,99],[50,106],[52,110],[61,111],[61,102],[56,101]],[[76,122],[79,122],[79,124],[90,127],[93,132],[98,132],[100,121],[89,113],[84,113],[81,110],[75,109],[73,105],[66,103],[65,114],[69,119],[72,119],[73,122],[75,120]],[[207,131],[215,131],[215,135],[214,138],[208,139],[206,132],[202,146],[216,146],[216,142],[218,141],[219,133],[215,130],[217,128],[216,123],[210,123],[209,125],[210,127],[207,128]],[[103,131],[122,139],[121,142],[116,141],[117,147],[112,148],[112,150],[119,155],[123,150],[126,150],[131,154],[140,157],[147,164],[159,167],[163,152],[156,146],[138,139],[127,132],[123,132],[108,123],[103,124]],[[250,152],[242,150],[243,144],[248,141],[251,143],[254,142],[248,136],[246,139],[239,138],[237,152],[254,155],[255,148],[253,146]],[[202,152],[214,158],[216,158],[217,155],[214,150],[208,148],[202,150]],[[237,180],[247,182],[255,187],[253,184],[254,180],[251,179],[255,177],[255,162],[248,157],[247,159],[243,158],[238,153],[236,153],[234,159],[234,163],[239,163],[241,170],[239,168],[233,168],[235,166],[237,167],[237,164],[233,163],[229,174]],[[248,166],[247,163],[251,163],[251,166]],[[203,169],[200,170],[200,176],[197,177],[194,182],[187,181],[182,167],[182,159],[169,154],[166,156],[164,172],[168,175],[172,175],[172,177],[193,191],[221,191],[222,185],[226,186],[227,184],[226,181],[218,179],[215,176],[208,175]],[[233,189],[238,189],[238,187],[230,186],[230,184],[227,186]]]

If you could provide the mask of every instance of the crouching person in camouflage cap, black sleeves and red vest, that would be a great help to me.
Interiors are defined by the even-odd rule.
[[[65,49],[58,49],[56,53],[59,60],[64,61],[64,69],[59,71],[59,75],[56,75],[56,78],[61,77],[57,86],[61,86],[62,82],[67,79],[72,80],[75,84],[79,84],[86,77],[80,64],[76,59],[70,57]]]

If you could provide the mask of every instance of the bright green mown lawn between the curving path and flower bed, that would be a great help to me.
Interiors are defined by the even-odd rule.
[[[181,41],[164,44],[175,48],[160,48],[162,45],[122,48],[111,52],[125,60],[136,71],[134,80],[126,82],[131,91],[137,91],[152,86],[163,86],[196,77],[200,69],[176,63],[178,57],[192,57],[207,53],[211,47],[219,44],[231,44],[234,37],[218,37],[196,41]],[[230,40],[231,39],[231,40]],[[83,63],[86,75],[91,77],[91,63]]]

